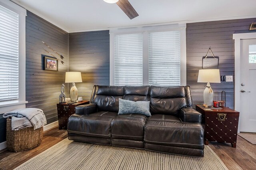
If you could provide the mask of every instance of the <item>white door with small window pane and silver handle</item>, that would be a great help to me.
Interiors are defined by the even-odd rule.
[[[241,40],[240,132],[256,132],[256,39]]]

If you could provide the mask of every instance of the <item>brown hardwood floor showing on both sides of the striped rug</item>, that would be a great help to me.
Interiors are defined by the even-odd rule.
[[[237,136],[236,148],[231,144],[211,142],[210,148],[220,157],[229,170],[256,170],[256,145],[244,138]],[[40,154],[54,144],[67,138],[66,130],[58,130],[58,127],[44,132],[40,146],[23,152],[0,152],[0,170],[12,170],[30,158]]]

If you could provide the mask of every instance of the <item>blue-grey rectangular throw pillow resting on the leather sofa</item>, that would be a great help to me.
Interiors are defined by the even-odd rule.
[[[122,114],[142,114],[146,116],[151,116],[149,111],[149,101],[130,101],[119,99],[119,111],[118,115]]]

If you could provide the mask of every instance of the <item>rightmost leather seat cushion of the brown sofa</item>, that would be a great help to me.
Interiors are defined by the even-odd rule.
[[[200,123],[182,123],[171,115],[152,115],[146,121],[144,141],[148,144],[204,149]]]

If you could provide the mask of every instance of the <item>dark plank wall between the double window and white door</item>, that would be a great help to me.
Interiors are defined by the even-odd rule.
[[[214,55],[220,57],[218,65],[220,75],[234,76],[233,34],[255,32],[249,31],[252,22],[256,22],[256,18],[187,24],[187,85],[191,87],[193,107],[204,101],[203,91],[206,83],[197,83],[198,70],[202,69],[202,57],[211,47]],[[234,109],[234,81],[221,81],[221,83],[211,83],[211,85],[214,91],[214,100],[220,100],[221,91],[224,90],[226,91],[226,106]]]

